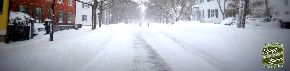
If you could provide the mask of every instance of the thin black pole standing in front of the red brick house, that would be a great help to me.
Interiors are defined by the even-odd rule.
[[[51,19],[51,24],[50,24],[50,35],[49,35],[49,41],[53,40],[53,18],[54,18],[54,6],[55,5],[55,0],[52,1],[52,19]]]

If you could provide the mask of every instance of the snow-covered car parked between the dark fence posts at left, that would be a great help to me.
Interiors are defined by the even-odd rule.
[[[45,31],[45,26],[41,23],[34,23],[34,27],[33,27],[33,34],[38,35],[38,34],[46,34]]]

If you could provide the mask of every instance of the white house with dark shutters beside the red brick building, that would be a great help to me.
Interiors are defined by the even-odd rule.
[[[87,1],[87,0],[83,0]],[[93,9],[90,5],[81,3],[81,2],[76,2],[76,10],[75,10],[75,23],[79,24],[81,23],[82,25],[92,25],[92,13]],[[97,9],[97,13],[99,13],[99,10]],[[98,21],[99,16],[97,17]]]

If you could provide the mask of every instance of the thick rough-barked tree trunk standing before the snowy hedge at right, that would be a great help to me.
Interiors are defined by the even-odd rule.
[[[245,28],[245,19],[246,19],[246,9],[248,0],[240,0],[240,8],[239,8],[239,17],[237,28]]]

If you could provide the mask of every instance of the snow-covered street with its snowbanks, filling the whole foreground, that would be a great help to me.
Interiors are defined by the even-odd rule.
[[[37,35],[0,43],[0,71],[289,70],[290,33],[285,32],[290,30],[246,27],[179,21],[58,31],[51,42],[49,35]],[[284,67],[262,67],[262,44],[267,43],[284,44]]]

